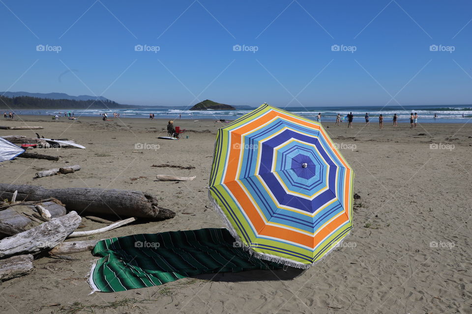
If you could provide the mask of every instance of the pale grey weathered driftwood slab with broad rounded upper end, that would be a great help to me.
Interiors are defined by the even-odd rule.
[[[75,211],[54,218],[17,235],[0,240],[0,259],[51,250],[79,226],[82,218]]]

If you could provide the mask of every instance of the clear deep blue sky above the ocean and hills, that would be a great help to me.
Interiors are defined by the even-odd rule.
[[[471,104],[471,21],[460,0],[2,0],[0,90],[131,105]]]

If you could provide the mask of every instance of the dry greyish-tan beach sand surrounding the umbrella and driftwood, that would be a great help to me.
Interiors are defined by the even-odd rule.
[[[224,227],[205,188],[220,123],[176,120],[189,138],[168,141],[157,139],[165,135],[167,124],[158,119],[21,118],[44,126],[40,134],[45,137],[74,139],[87,149],[43,150],[60,155],[59,162],[2,162],[0,182],[143,190],[177,212],[171,220],[125,226],[97,238]],[[361,197],[345,246],[323,262],[302,273],[203,275],[160,287],[89,295],[85,276],[95,259],[89,252],[73,255],[77,261],[41,258],[31,274],[0,285],[0,313],[472,313],[472,124],[426,124],[415,130],[408,124],[393,128],[385,123],[384,130],[375,123],[354,123],[353,129],[345,123],[323,124],[354,168],[354,192]],[[10,134],[34,135],[0,130],[0,135]],[[137,143],[158,144],[159,149],[136,149]],[[431,149],[434,143],[442,144]],[[32,180],[38,170],[64,163],[78,163],[82,170]],[[196,169],[151,167],[163,163]],[[154,182],[156,174],[197,178]],[[103,226],[89,220],[85,224],[82,230]],[[56,303],[60,306],[41,308]],[[78,309],[83,312],[72,312]]]

